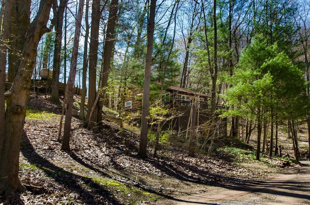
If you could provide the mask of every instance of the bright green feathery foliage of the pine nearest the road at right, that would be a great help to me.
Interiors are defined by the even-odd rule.
[[[279,118],[306,114],[309,100],[305,95],[305,80],[301,70],[290,62],[277,44],[267,46],[260,36],[242,52],[232,77],[233,85],[222,97],[227,106],[237,109],[224,112],[223,116],[245,116],[252,120],[267,118],[271,109]],[[258,109],[264,109],[258,119]]]

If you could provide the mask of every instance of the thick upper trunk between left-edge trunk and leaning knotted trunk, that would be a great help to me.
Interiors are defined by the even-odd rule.
[[[26,41],[25,34],[30,24],[30,0],[15,0],[11,15],[8,42],[11,50],[8,65],[9,89],[11,88],[11,83],[14,81],[18,63],[20,62],[20,55]]]

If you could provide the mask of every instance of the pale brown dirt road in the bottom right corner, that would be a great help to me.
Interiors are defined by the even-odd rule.
[[[269,181],[206,187],[203,194],[182,196],[166,204],[310,204],[309,166],[275,174]]]

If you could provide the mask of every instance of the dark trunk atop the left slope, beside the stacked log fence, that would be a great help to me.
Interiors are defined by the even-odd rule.
[[[62,27],[64,23],[64,9],[67,7],[68,0],[60,0],[57,9],[56,25],[55,25],[55,46],[53,60],[53,76],[51,86],[51,101],[60,104],[59,101],[59,72],[60,72],[60,51],[62,42]]]

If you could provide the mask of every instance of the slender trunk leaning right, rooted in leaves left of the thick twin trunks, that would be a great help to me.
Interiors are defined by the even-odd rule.
[[[64,138],[62,140],[61,150],[70,150],[70,130],[71,130],[73,94],[74,94],[73,89],[74,89],[75,73],[77,71],[78,44],[80,39],[83,7],[84,7],[84,0],[80,0],[78,8],[78,16],[77,20],[75,21],[75,33],[72,48],[72,58],[70,64],[70,74],[68,80],[66,117],[64,120]]]

